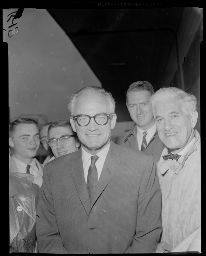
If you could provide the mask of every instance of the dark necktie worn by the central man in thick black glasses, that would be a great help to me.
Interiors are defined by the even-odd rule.
[[[99,156],[91,156],[91,164],[89,166],[88,175],[87,175],[86,186],[87,186],[90,202],[92,201],[92,196],[97,187],[98,176],[97,176],[97,167],[95,166],[95,163],[98,158]]]

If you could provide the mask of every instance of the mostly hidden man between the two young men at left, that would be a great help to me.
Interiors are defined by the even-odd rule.
[[[43,165],[48,163],[49,159],[53,157],[52,150],[47,143],[47,133],[50,124],[52,124],[52,122],[43,124],[39,130],[40,142],[42,144],[42,147],[46,150],[48,154],[48,156],[44,159]]]

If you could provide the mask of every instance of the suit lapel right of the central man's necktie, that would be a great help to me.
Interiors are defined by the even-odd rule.
[[[109,181],[112,179],[114,174],[117,172],[119,164],[120,164],[120,156],[118,146],[111,141],[109,151],[107,153],[107,157],[105,159],[104,166],[101,171],[101,175],[99,177],[99,181],[97,183],[97,188],[95,190],[95,194],[92,199],[91,209],[93,204],[96,202],[98,197],[101,195],[103,190],[107,187]]]

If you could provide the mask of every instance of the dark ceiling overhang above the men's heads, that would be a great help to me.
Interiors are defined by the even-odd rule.
[[[138,80],[162,85],[183,7],[47,9],[116,100],[117,121],[130,121],[125,92]]]

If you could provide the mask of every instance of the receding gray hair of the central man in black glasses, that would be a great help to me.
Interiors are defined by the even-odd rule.
[[[90,86],[85,86],[85,87],[81,88],[80,90],[78,90],[77,92],[75,92],[74,94],[71,95],[70,103],[68,104],[68,109],[69,109],[71,115],[73,115],[73,113],[74,113],[74,105],[75,105],[77,98],[80,95],[86,95],[88,93],[92,93],[93,95],[105,96],[107,98],[107,100],[109,101],[109,107],[111,109],[111,112],[114,113],[115,101],[114,101],[114,98],[112,97],[112,94],[110,92],[106,92],[104,88],[90,85]]]

